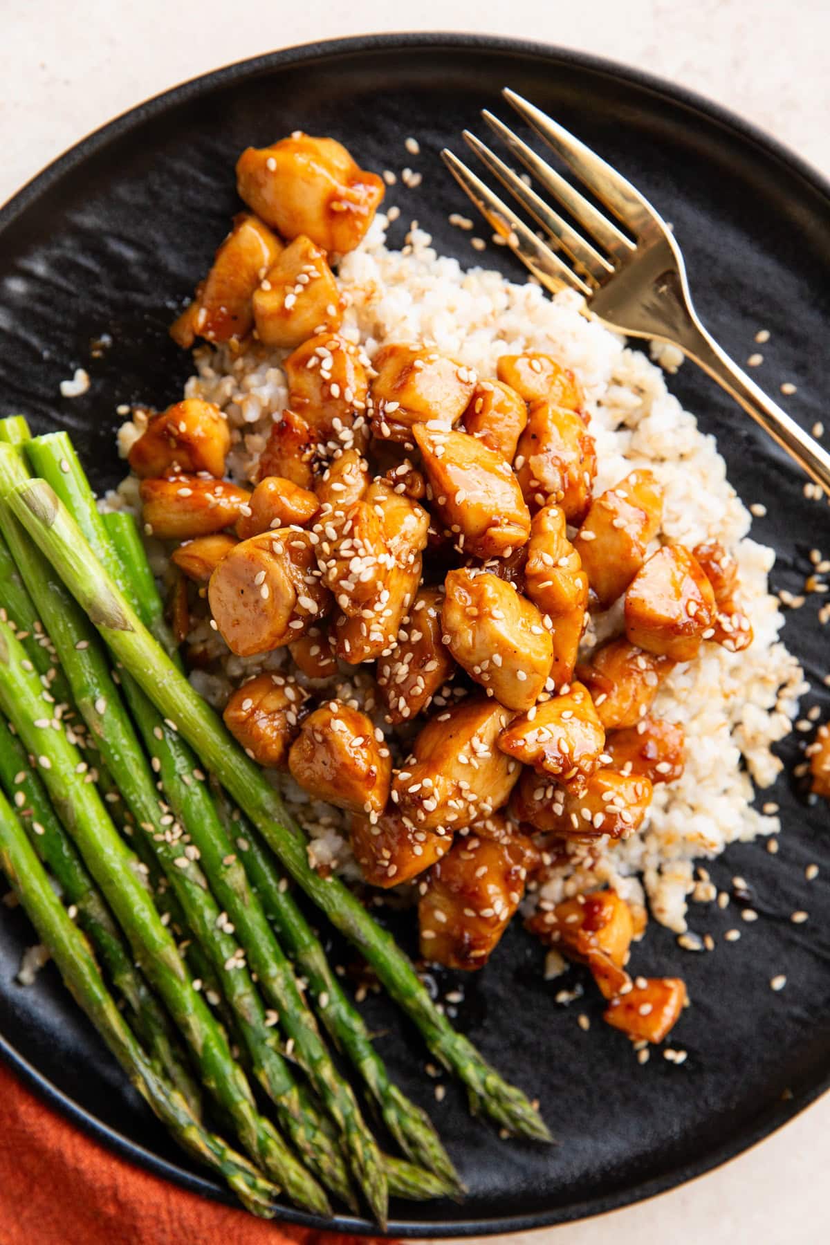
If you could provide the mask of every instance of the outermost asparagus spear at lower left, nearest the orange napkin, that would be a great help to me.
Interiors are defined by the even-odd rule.
[[[0,793],[0,865],[49,947],[61,976],[105,1042],[177,1142],[214,1168],[256,1215],[273,1215],[279,1189],[192,1116],[185,1098],[161,1077],[129,1030],[98,972],[83,935],[52,890],[11,806]]]

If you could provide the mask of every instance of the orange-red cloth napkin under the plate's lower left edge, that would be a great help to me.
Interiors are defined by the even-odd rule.
[[[90,1140],[0,1064],[0,1245],[357,1241],[258,1220],[149,1175]]]

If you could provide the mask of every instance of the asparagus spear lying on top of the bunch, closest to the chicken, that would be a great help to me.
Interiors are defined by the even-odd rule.
[[[15,489],[9,502],[70,591],[91,614],[118,660],[159,711],[177,722],[207,768],[217,774],[306,894],[362,951],[392,997],[418,1025],[436,1058],[465,1082],[472,1108],[485,1111],[508,1132],[550,1140],[548,1128],[524,1093],[508,1084],[438,1011],[392,935],[377,925],[337,876],[324,879],[309,865],[300,825],[287,814],[259,767],[143,626],[55,491],[45,481],[34,481]]]

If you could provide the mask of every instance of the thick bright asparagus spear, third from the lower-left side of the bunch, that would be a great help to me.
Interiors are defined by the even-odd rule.
[[[294,1200],[326,1213],[327,1200],[320,1186],[256,1111],[248,1081],[234,1062],[220,1026],[193,989],[173,936],[162,924],[144,886],[138,859],[112,824],[96,788],[78,773],[83,762],[77,748],[63,731],[42,725],[40,692],[36,675],[26,669],[24,649],[11,627],[0,622],[2,708],[27,751],[37,758],[55,810],[127,935],[137,964],[187,1038],[202,1083],[233,1118],[240,1142],[266,1174],[281,1183]]]

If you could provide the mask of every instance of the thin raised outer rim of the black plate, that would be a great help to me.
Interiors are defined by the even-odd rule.
[[[723,105],[716,103],[708,97],[683,86],[674,85],[667,78],[647,71],[613,61],[609,57],[595,56],[590,52],[575,49],[560,47],[536,40],[511,39],[501,35],[479,35],[455,31],[388,31],[383,34],[352,35],[340,39],[321,40],[319,42],[297,44],[290,47],[276,49],[259,56],[246,57],[234,61],[230,65],[212,70],[207,73],[187,78],[166,91],[162,91],[148,100],[118,113],[111,121],[91,131],[86,137],[68,147],[57,156],[39,173],[24,183],[20,189],[2,204],[0,204],[0,242],[9,228],[25,215],[29,205],[35,199],[47,192],[50,187],[60,181],[66,173],[82,166],[83,162],[96,152],[105,148],[111,141],[128,133],[136,126],[143,125],[169,107],[189,102],[198,98],[203,92],[212,91],[243,80],[250,76],[279,70],[285,66],[300,65],[314,60],[325,60],[337,56],[360,54],[377,50],[457,50],[463,54],[475,52],[506,52],[525,57],[535,57],[540,61],[557,62],[575,66],[581,70],[600,73],[617,82],[646,90],[655,96],[662,96],[672,103],[681,103],[691,112],[698,112],[708,122],[714,121],[719,127],[737,134],[744,143],[759,148],[767,157],[773,157],[790,174],[795,174],[819,198],[825,199],[830,215],[830,178],[820,173],[809,161],[791,151],[785,143],[769,136],[759,126],[733,112]],[[178,1164],[162,1158],[159,1154],[146,1149],[137,1142],[131,1140],[116,1128],[106,1124],[95,1114],[81,1107],[70,1094],[60,1089],[52,1081],[44,1076],[26,1056],[19,1051],[0,1032],[0,1058],[15,1074],[41,1099],[55,1109],[60,1111],[86,1135],[106,1145],[128,1162],[152,1173],[153,1175],[170,1180],[180,1188],[199,1193],[212,1200],[224,1201],[229,1205],[239,1205],[236,1199],[218,1183],[212,1179],[187,1170]],[[828,1071],[816,1083],[793,1093],[786,1102],[773,1104],[762,1112],[754,1120],[744,1127],[739,1138],[718,1145],[696,1162],[678,1164],[669,1172],[660,1177],[641,1180],[626,1189],[615,1190],[601,1198],[590,1201],[576,1201],[566,1206],[550,1210],[535,1211],[526,1215],[489,1216],[485,1219],[457,1219],[449,1221],[429,1221],[418,1219],[389,1220],[386,1234],[391,1238],[421,1238],[421,1239],[448,1239],[464,1236],[498,1235],[511,1231],[530,1231],[539,1228],[554,1226],[557,1224],[575,1223],[577,1220],[607,1214],[611,1210],[622,1209],[638,1201],[645,1201],[658,1194],[676,1189],[689,1180],[697,1179],[708,1172],[722,1167],[730,1159],[747,1153],[759,1142],[772,1135],[795,1116],[830,1089],[830,1062]],[[351,1215],[335,1215],[329,1219],[300,1211],[292,1206],[277,1204],[274,1215],[275,1223],[294,1223],[307,1228],[322,1229],[326,1231],[340,1231],[350,1235],[377,1236],[378,1229],[368,1220]]]

